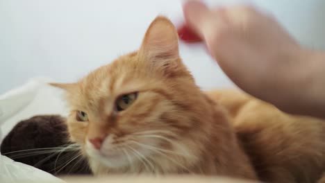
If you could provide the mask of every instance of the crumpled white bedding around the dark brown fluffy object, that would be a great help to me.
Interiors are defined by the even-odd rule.
[[[58,89],[47,85],[49,79],[33,78],[22,87],[0,96],[0,141],[22,119],[39,114],[65,115],[65,104]],[[0,182],[63,182],[33,166],[13,162],[0,155]]]

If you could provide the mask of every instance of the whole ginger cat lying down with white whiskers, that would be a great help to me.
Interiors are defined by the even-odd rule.
[[[139,51],[76,83],[51,85],[67,91],[69,134],[95,175],[313,182],[324,168],[322,121],[284,114],[244,94],[202,92],[165,17],[151,23]]]

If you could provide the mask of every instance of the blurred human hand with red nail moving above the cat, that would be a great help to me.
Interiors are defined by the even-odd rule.
[[[286,112],[309,114],[311,51],[273,17],[249,6],[209,9],[199,1],[187,1],[183,10],[188,30],[182,28],[180,37],[202,40],[238,87]]]

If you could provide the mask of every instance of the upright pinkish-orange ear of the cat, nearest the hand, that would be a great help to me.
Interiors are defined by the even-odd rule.
[[[161,67],[176,67],[179,62],[176,28],[166,17],[156,17],[144,35],[140,57]]]

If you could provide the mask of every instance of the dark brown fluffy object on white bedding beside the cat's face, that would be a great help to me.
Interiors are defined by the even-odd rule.
[[[53,175],[90,174],[78,146],[68,142],[65,118],[33,116],[20,121],[1,143],[1,154]]]

